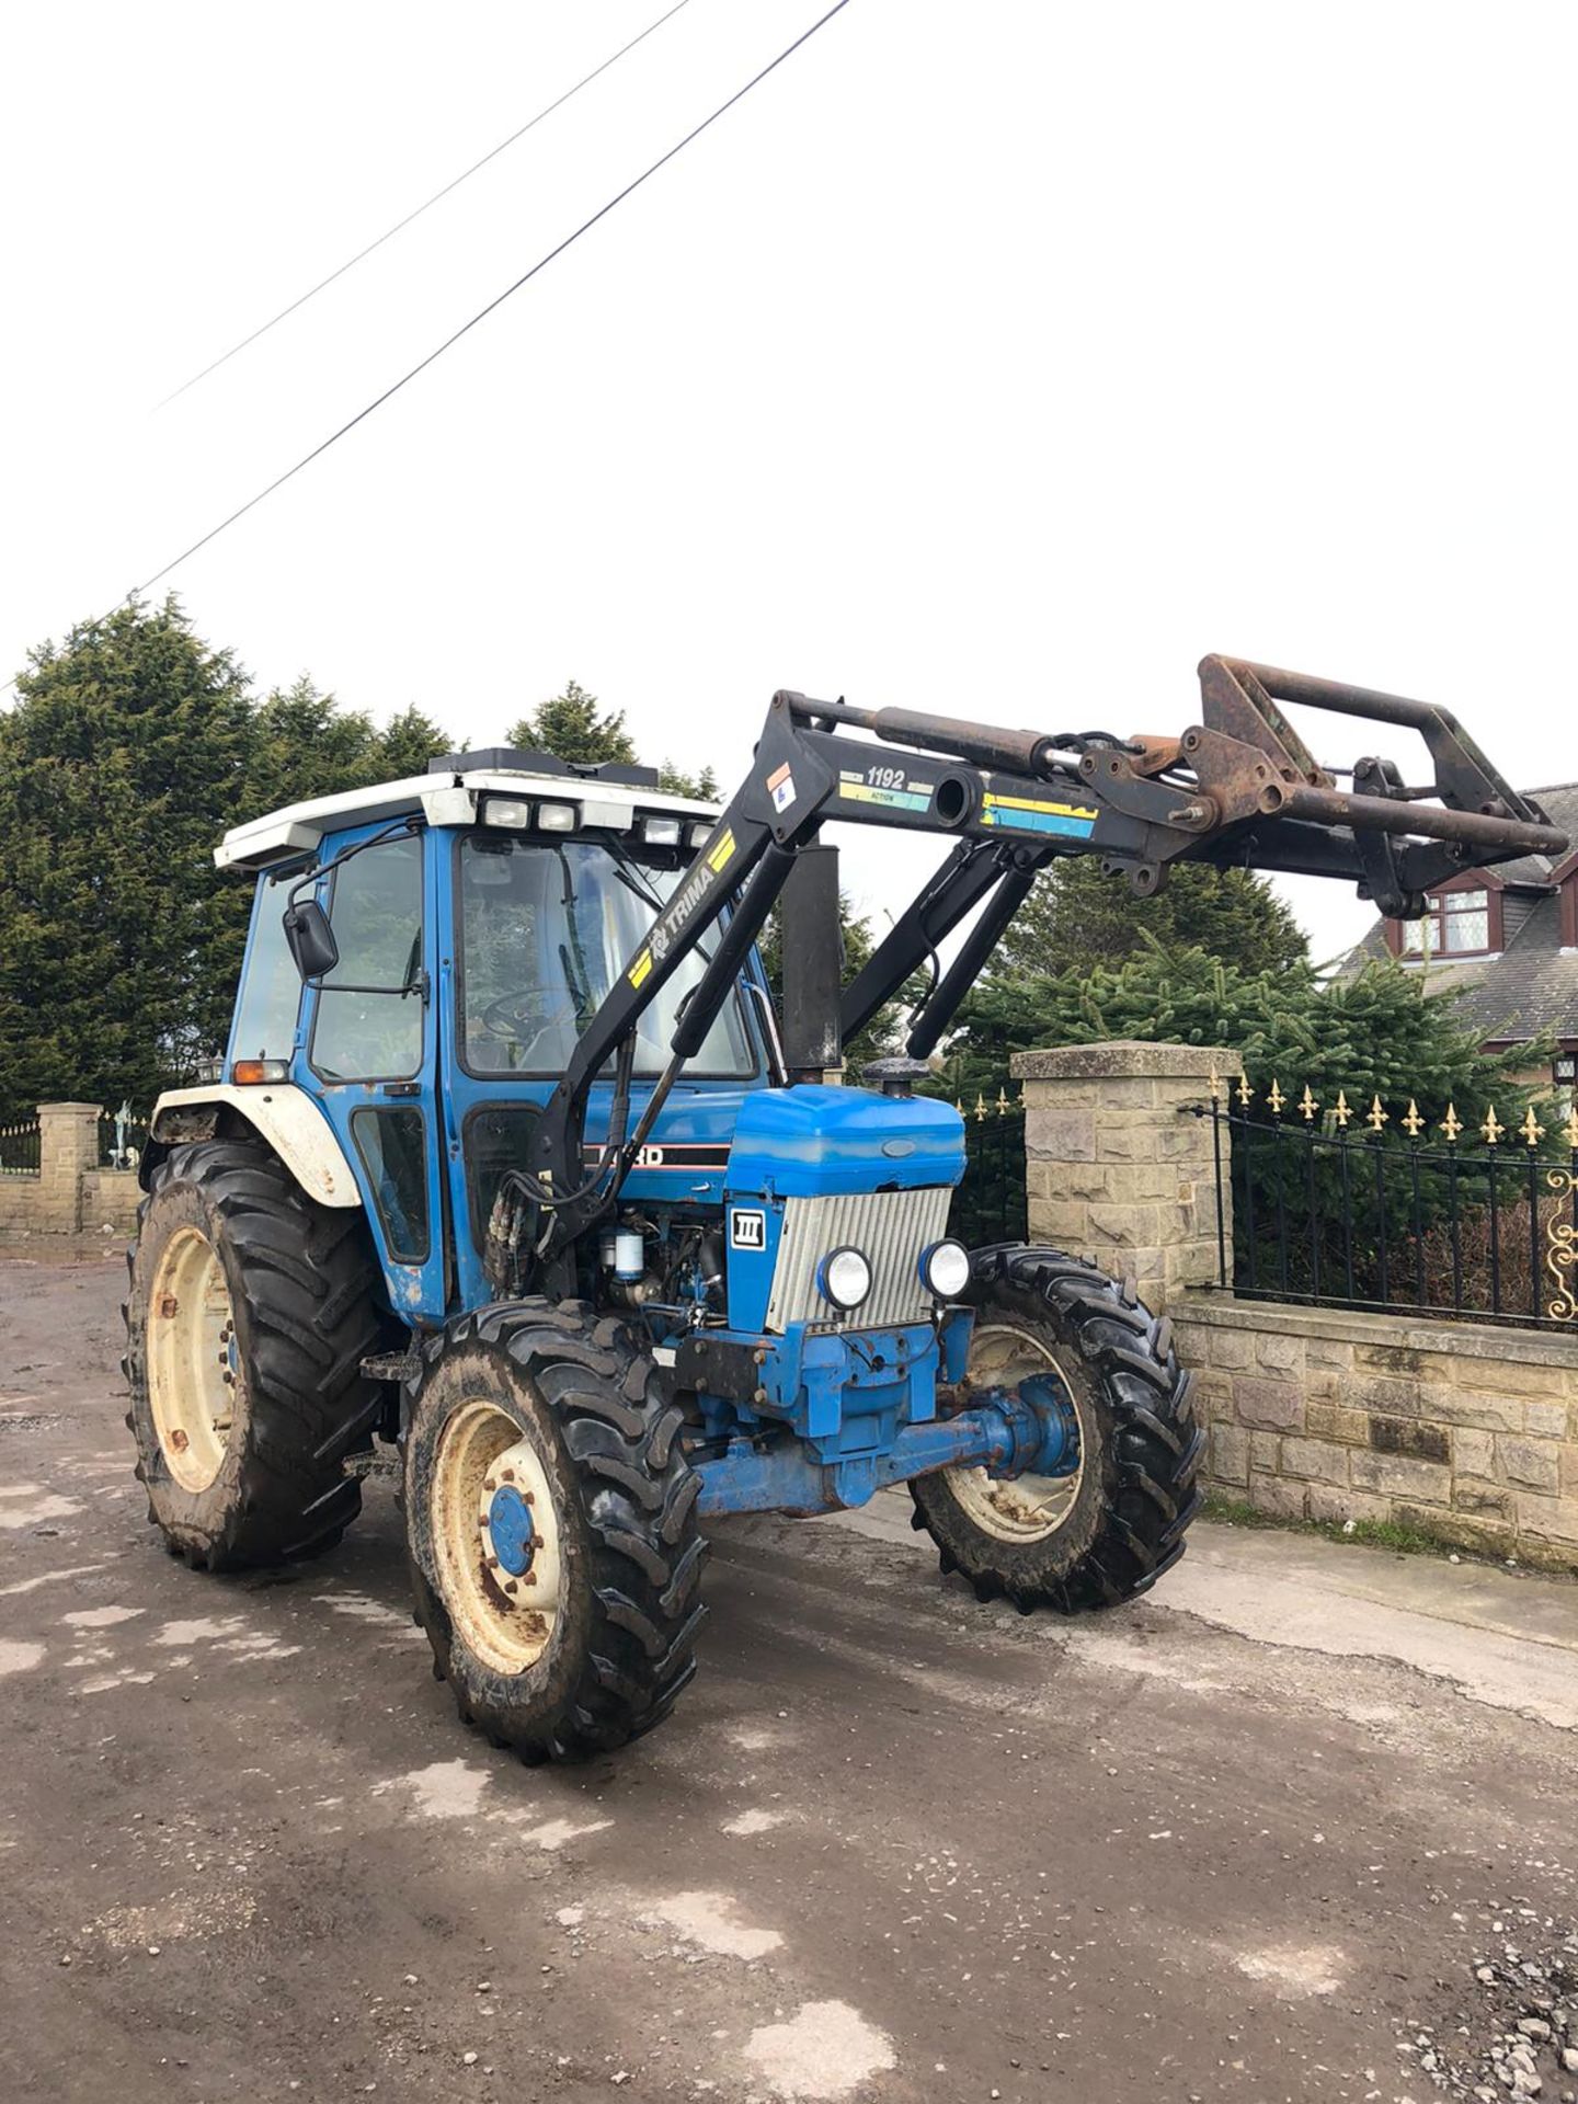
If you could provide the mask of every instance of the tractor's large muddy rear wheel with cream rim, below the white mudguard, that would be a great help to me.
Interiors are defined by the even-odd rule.
[[[360,1212],[313,1206],[261,1145],[154,1170],[128,1252],[126,1424],[147,1517],[194,1570],[284,1563],[356,1519],[391,1321]]]

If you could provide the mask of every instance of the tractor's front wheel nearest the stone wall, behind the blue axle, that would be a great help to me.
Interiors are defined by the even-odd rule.
[[[1203,1433],[1172,1323],[1058,1250],[983,1250],[972,1269],[968,1382],[1056,1382],[1079,1420],[1079,1466],[1010,1481],[940,1469],[911,1483],[913,1523],[978,1599],[1006,1595],[1023,1614],[1134,1599],[1178,1561],[1199,1509]]]

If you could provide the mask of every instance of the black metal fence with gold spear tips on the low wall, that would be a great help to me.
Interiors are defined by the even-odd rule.
[[[1241,1298],[1578,1334],[1578,1107],[1555,1130],[1494,1109],[1471,1128],[1454,1107],[1431,1126],[1414,1102],[1395,1119],[1378,1096],[1321,1107],[1273,1081],[1258,1100],[1216,1086],[1210,1115],[1220,1273]]]

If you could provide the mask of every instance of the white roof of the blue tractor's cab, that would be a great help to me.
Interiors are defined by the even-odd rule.
[[[581,827],[627,833],[644,810],[682,818],[715,818],[720,806],[696,797],[667,795],[656,787],[656,770],[635,766],[579,768],[551,753],[522,753],[488,747],[480,753],[446,753],[427,774],[337,795],[286,804],[267,818],[231,827],[215,848],[219,869],[269,869],[274,863],[311,854],[324,833],[385,818],[421,814],[429,825],[476,825],[478,804],[488,791],[513,797],[543,797],[579,804]]]

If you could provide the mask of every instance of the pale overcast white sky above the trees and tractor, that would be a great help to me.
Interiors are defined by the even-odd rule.
[[[821,13],[688,0],[154,412],[663,4],[0,15],[0,677]],[[574,675],[726,781],[776,686],[1166,732],[1206,650],[1578,776],[1576,44],[1538,4],[850,0],[173,585],[261,686],[488,743]],[[846,846],[896,905],[911,858]],[[1296,905],[1317,953],[1368,919]]]

